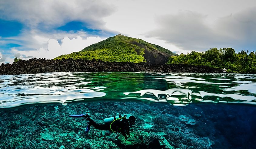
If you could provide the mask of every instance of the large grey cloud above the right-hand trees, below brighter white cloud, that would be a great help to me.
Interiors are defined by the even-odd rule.
[[[233,47],[236,50],[254,50],[256,43],[256,11],[247,9],[225,18],[218,18],[213,24],[208,16],[191,11],[175,15],[159,16],[158,29],[146,33],[183,50],[205,51],[213,47]],[[240,21],[241,20],[241,21]]]

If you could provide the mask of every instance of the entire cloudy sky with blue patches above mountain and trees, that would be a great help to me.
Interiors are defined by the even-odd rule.
[[[52,59],[122,34],[177,54],[256,51],[255,0],[0,0],[0,64]]]

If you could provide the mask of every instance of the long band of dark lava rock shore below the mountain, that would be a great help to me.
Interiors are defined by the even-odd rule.
[[[30,59],[19,60],[13,64],[0,65],[0,75],[35,74],[51,72],[161,72],[161,73],[223,73],[221,69],[208,66],[194,66],[186,64],[148,64],[148,63],[121,63],[103,62],[95,59]]]

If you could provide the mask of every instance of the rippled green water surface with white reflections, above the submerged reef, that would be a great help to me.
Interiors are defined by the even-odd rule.
[[[208,73],[40,73],[0,77],[0,109],[73,101],[256,103],[256,75]]]

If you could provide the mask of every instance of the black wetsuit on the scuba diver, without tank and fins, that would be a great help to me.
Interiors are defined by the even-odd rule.
[[[89,121],[89,125],[94,126],[94,128],[99,130],[108,130],[108,131],[114,131],[114,132],[120,132],[124,137],[127,137],[130,135],[130,125],[127,118],[121,118],[116,121],[114,121],[111,125],[110,124],[97,124],[95,121],[93,121],[90,117],[87,117]]]

